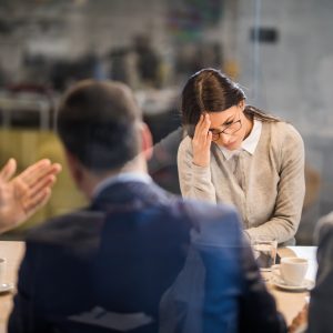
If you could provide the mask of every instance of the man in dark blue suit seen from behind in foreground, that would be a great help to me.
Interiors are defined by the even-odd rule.
[[[13,332],[284,332],[233,208],[183,201],[147,173],[131,90],[82,81],[58,130],[89,206],[31,231]]]

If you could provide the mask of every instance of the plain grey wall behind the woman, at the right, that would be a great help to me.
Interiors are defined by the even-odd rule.
[[[255,24],[279,31],[276,43],[250,41]],[[302,229],[333,210],[333,2],[330,0],[240,0],[236,58],[249,102],[291,121],[305,141],[306,161],[321,176],[317,201]],[[258,47],[258,49],[256,49]]]

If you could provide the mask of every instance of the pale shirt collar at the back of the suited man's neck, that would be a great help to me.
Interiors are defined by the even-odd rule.
[[[103,179],[101,182],[97,184],[97,186],[93,190],[93,198],[97,198],[104,189],[110,186],[113,183],[118,182],[142,182],[142,183],[151,183],[152,179],[147,173],[140,173],[140,172],[123,172],[119,173],[117,175],[108,176]]]

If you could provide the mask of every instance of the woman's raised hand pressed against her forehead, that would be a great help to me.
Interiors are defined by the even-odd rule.
[[[193,163],[199,167],[209,167],[210,164],[212,144],[210,125],[209,114],[201,114],[192,139]]]

